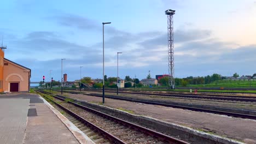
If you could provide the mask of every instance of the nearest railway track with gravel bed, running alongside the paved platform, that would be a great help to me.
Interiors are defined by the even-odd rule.
[[[44,91],[38,92],[51,94]],[[52,96],[54,100],[49,100],[61,107],[62,110],[65,110],[66,114],[64,113],[64,115],[71,118],[71,121],[75,122],[78,127],[84,128],[85,130],[83,131],[85,134],[96,137],[95,143],[188,143],[92,110],[67,99],[55,95]],[[67,101],[67,103],[63,103],[63,101]],[[83,127],[82,123],[88,125],[90,128]],[[90,131],[91,129],[92,131]]]

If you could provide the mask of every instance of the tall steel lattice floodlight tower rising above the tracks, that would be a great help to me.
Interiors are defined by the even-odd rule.
[[[173,15],[175,10],[168,9],[165,11],[167,15],[167,33],[168,33],[168,71],[169,86],[174,89],[174,48],[173,48]]]

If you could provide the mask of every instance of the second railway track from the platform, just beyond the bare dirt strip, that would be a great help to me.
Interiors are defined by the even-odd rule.
[[[78,93],[78,92],[72,92],[72,93],[73,94],[81,94],[81,93]],[[94,96],[94,97],[102,97],[101,94],[84,94],[84,95],[89,95],[89,96]],[[150,105],[161,105],[161,106],[167,106],[167,107],[173,107],[173,108],[185,109],[185,110],[191,110],[191,111],[215,113],[215,114],[226,115],[226,116],[231,116],[231,117],[256,119],[255,115],[247,115],[247,114],[243,114],[243,113],[235,113],[235,112],[212,110],[212,109],[201,109],[201,108],[197,108],[197,107],[193,107],[193,106],[183,106],[183,105],[179,105],[179,104],[163,103],[163,102],[152,101],[152,100],[122,98],[122,97],[109,96],[109,95],[105,95],[105,98],[132,101],[132,102],[135,102],[135,103],[143,103],[143,104],[150,104]]]

